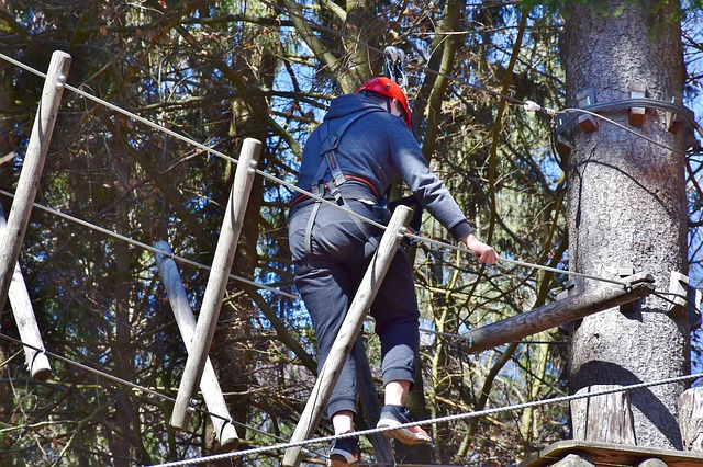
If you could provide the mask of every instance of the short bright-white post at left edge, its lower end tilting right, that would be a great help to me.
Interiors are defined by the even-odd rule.
[[[4,212],[2,210],[2,206],[0,206],[0,235],[4,232],[5,226]],[[14,271],[8,294],[14,321],[18,324],[18,331],[20,331],[20,339],[22,339],[22,342],[31,345],[24,348],[26,367],[34,379],[45,381],[52,376],[52,365],[46,354],[42,352],[44,350],[44,341],[42,340],[40,327],[36,323],[36,316],[32,308],[30,294],[26,292],[26,285],[24,285],[20,263],[14,263]],[[42,351],[37,349],[42,349]]]

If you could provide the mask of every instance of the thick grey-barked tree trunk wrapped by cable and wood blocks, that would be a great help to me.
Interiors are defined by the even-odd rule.
[[[572,2],[566,24],[567,99],[593,88],[595,103],[631,96],[636,81],[647,96],[665,100],[681,91],[683,58],[679,8],[659,1]],[[607,117],[628,126],[628,111]],[[632,127],[677,151],[652,145],[602,119],[588,134],[577,128],[568,164],[569,248],[573,271],[615,278],[620,267],[655,275],[667,289],[669,274],[687,272],[687,209],[681,135],[666,129],[662,112],[648,110]],[[594,286],[593,282],[587,284]],[[654,295],[633,310],[611,309],[577,323],[572,331],[570,385],[632,385],[689,372],[688,317],[667,315]],[[637,445],[681,448],[677,400],[685,384],[631,392]]]

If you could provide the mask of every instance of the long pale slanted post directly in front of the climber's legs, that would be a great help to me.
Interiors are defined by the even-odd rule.
[[[346,362],[354,342],[364,326],[364,319],[371,308],[373,298],[388,272],[391,260],[398,251],[400,241],[402,240],[402,232],[405,231],[405,227],[412,217],[412,209],[408,206],[398,206],[393,212],[393,217],[381,238],[376,254],[366,270],[366,274],[359,284],[359,288],[349,305],[349,311],[342,323],[337,339],[330,351],[330,355],[325,361],[315,386],[312,389],[312,394],[308,399],[308,405],[303,411],[298,426],[293,432],[291,442],[299,442],[310,438],[320,423],[320,419],[324,412],[325,406],[330,400],[332,390],[339,377],[339,372],[344,363]],[[283,456],[281,466],[284,467],[298,467],[302,457],[302,451],[300,446],[289,447]]]

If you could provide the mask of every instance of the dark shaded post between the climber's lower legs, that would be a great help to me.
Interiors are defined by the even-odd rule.
[[[378,401],[376,384],[373,383],[373,375],[371,375],[371,366],[366,356],[364,341],[360,337],[352,352],[354,352],[354,358],[356,360],[356,381],[359,389],[361,407],[364,408],[364,415],[366,417],[369,428],[373,428],[381,418],[381,405]],[[381,433],[373,433],[369,438],[373,446],[376,462],[379,464],[395,465],[393,447],[388,436],[383,436]]]

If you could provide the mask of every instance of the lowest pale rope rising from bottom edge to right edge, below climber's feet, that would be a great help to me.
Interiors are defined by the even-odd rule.
[[[313,440],[303,440],[303,441],[286,443],[286,444],[276,444],[276,445],[272,445],[272,446],[257,447],[257,448],[245,449],[245,451],[237,451],[237,452],[234,452],[234,453],[219,454],[219,455],[199,457],[199,458],[188,459],[188,460],[180,460],[180,462],[165,463],[165,464],[155,464],[155,465],[153,465],[150,467],[187,466],[187,465],[202,464],[202,463],[208,463],[208,462],[215,462],[215,460],[221,460],[221,459],[228,459],[228,458],[234,458],[234,457],[243,457],[243,456],[250,455],[250,454],[266,453],[266,452],[271,452],[271,451],[284,449],[284,448],[289,448],[289,447],[306,446],[309,444],[317,444],[317,443],[327,443],[327,442],[332,442],[332,441],[335,441],[335,440],[343,440],[343,438],[349,438],[349,437],[356,437],[356,436],[368,436],[370,434],[384,433],[384,432],[389,432],[389,431],[393,431],[393,430],[398,430],[398,429],[411,428],[411,426],[419,426],[421,424],[446,423],[446,422],[451,422],[451,421],[457,421],[457,420],[466,420],[466,419],[473,419],[473,418],[479,418],[479,417],[488,417],[488,415],[492,415],[492,414],[501,413],[501,412],[506,412],[506,411],[529,409],[529,408],[540,407],[540,406],[546,406],[546,405],[568,402],[568,401],[571,401],[571,400],[587,399],[587,398],[592,398],[592,397],[598,397],[598,396],[606,396],[606,395],[615,394],[615,392],[633,391],[633,390],[648,388],[648,387],[652,387],[652,386],[662,386],[662,385],[681,383],[681,381],[691,380],[691,379],[698,379],[698,378],[701,378],[701,377],[703,377],[703,373],[696,373],[694,375],[676,376],[676,377],[666,378],[666,379],[659,379],[659,380],[650,381],[650,383],[638,383],[638,384],[634,384],[634,385],[629,385],[629,386],[621,386],[621,387],[617,387],[617,388],[602,389],[602,390],[592,391],[592,392],[574,394],[574,395],[571,395],[571,396],[561,396],[561,397],[555,397],[555,398],[551,398],[551,399],[535,400],[535,401],[529,401],[529,402],[517,403],[517,405],[514,405],[514,406],[495,407],[495,408],[492,408],[492,409],[484,409],[484,410],[479,410],[479,411],[476,411],[476,412],[467,412],[467,413],[458,413],[458,414],[454,414],[454,415],[437,417],[437,418],[434,418],[434,419],[426,419],[426,420],[414,421],[414,422],[411,422],[411,423],[403,423],[403,424],[400,424],[400,425],[397,425],[397,426],[386,426],[386,428],[381,428],[381,429],[377,428],[377,429],[369,429],[369,430],[360,430],[360,431],[356,431],[356,432],[353,432],[353,433],[345,433],[345,434],[333,435],[333,436],[323,436],[323,437],[317,437],[317,438],[313,438]]]

